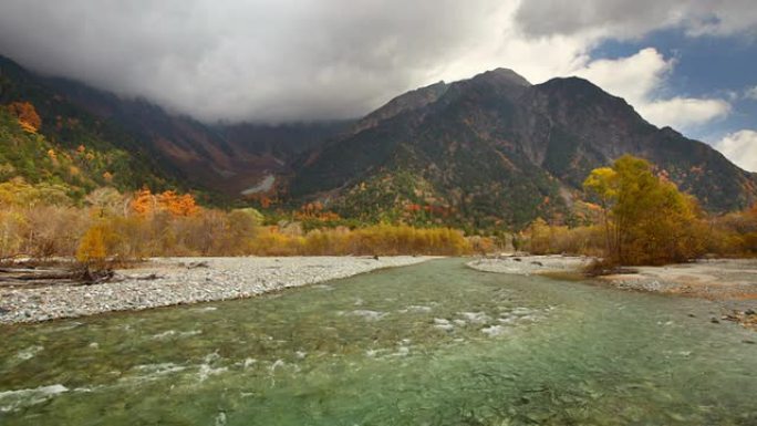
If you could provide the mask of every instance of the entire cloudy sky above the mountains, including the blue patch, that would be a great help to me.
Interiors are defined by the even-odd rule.
[[[0,54],[209,122],[357,117],[497,66],[580,75],[757,170],[754,0],[2,0]]]

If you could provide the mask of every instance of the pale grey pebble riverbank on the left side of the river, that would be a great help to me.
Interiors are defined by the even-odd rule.
[[[249,298],[428,259],[409,256],[154,259],[136,269],[116,271],[115,282],[0,288],[0,324]]]

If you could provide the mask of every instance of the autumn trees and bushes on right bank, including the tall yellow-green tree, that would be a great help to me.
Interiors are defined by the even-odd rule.
[[[608,266],[757,254],[757,206],[708,216],[644,159],[626,155],[597,168],[583,188],[595,202],[590,224],[569,228],[537,219],[521,233],[526,250],[594,256]]]

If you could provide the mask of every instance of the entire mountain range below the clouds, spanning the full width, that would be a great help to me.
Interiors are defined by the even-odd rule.
[[[178,187],[319,200],[363,221],[520,227],[575,220],[589,172],[633,154],[711,212],[757,198],[755,175],[575,77],[532,85],[498,69],[405,93],[359,121],[211,125],[0,56],[0,105],[14,102],[33,105],[42,125],[29,133],[2,113],[0,175],[79,195]]]

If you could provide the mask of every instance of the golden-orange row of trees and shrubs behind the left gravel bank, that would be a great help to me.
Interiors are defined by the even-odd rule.
[[[470,243],[449,228],[403,225],[304,231],[299,222],[265,225],[252,208],[199,206],[188,194],[145,188],[90,193],[82,206],[65,189],[21,178],[0,184],[0,258],[75,257],[82,262],[182,256],[465,254]]]

